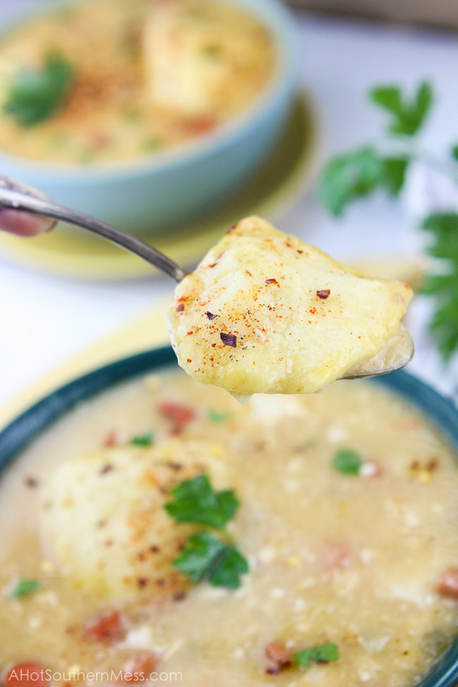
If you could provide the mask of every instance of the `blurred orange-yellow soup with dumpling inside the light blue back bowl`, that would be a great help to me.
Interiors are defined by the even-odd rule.
[[[210,132],[273,73],[266,27],[211,0],[92,0],[35,18],[0,43],[0,100],[49,52],[73,68],[57,111],[30,126],[0,112],[0,149],[37,160],[135,159]],[[0,111],[2,107],[0,106]]]

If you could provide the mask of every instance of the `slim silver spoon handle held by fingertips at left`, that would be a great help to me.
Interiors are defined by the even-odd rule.
[[[4,178],[5,179],[5,178]],[[176,281],[181,281],[186,276],[186,272],[173,260],[161,253],[159,250],[140,241],[137,237],[127,234],[120,229],[116,229],[105,222],[101,222],[94,217],[77,212],[64,205],[59,205],[49,201],[44,197],[32,195],[28,192],[16,190],[16,182],[8,180],[10,184],[0,184],[0,207],[16,210],[25,210],[37,215],[45,215],[54,219],[62,220],[74,224],[83,229],[87,229],[93,234],[98,234],[108,239],[112,243],[125,248],[125,250],[138,255],[151,265],[165,272]],[[20,185],[17,185],[20,187]]]

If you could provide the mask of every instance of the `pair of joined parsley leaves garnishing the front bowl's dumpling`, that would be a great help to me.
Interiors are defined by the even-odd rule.
[[[181,482],[171,495],[173,501],[164,509],[176,522],[206,525],[225,534],[225,538],[207,530],[192,534],[173,566],[192,583],[207,579],[216,587],[240,587],[240,576],[249,570],[247,559],[225,533],[225,526],[239,507],[233,491],[216,492],[208,476],[199,475]]]

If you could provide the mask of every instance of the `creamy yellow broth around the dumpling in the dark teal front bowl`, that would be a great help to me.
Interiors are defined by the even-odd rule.
[[[177,428],[173,414],[158,412],[164,402],[195,416]],[[47,531],[56,465],[150,429],[156,445],[171,434],[176,446],[202,442],[226,471],[240,500],[229,531],[250,568],[237,590],[205,581],[178,594],[168,581],[160,588],[147,557],[147,583],[101,593],[56,559]],[[335,469],[342,448],[361,455],[359,474]],[[109,461],[116,449],[103,450]],[[168,486],[181,478],[175,465]],[[0,667],[116,670],[146,654],[187,687],[411,686],[456,631],[457,603],[438,580],[457,562],[457,486],[454,454],[428,421],[372,382],[255,396],[243,407],[184,373],[121,385],[59,420],[1,480]],[[79,539],[89,526],[80,521]],[[109,548],[117,554],[116,536]],[[19,578],[42,586],[12,599]],[[123,614],[123,635],[88,638],[87,622],[112,609]],[[307,669],[278,667],[266,651],[325,642],[338,645],[339,660]]]

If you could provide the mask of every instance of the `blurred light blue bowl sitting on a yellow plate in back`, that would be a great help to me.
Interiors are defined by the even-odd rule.
[[[240,116],[176,149],[127,163],[61,165],[0,152],[2,173],[131,233],[162,230],[222,202],[278,140],[292,106],[297,55],[295,27],[280,0],[225,1],[256,14],[271,30],[278,53],[267,87]]]

